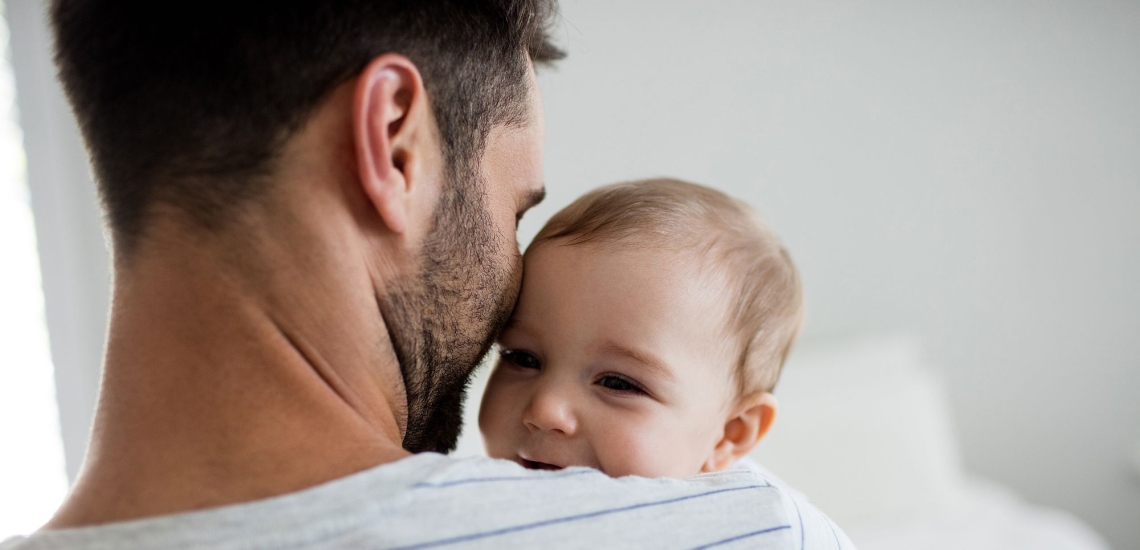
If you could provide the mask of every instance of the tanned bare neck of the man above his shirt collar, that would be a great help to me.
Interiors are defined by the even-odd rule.
[[[260,278],[195,244],[120,266],[91,446],[48,528],[269,498],[407,455],[368,274],[342,248],[259,250],[277,254]]]

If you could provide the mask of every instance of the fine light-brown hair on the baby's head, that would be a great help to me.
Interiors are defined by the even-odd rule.
[[[728,300],[739,397],[775,387],[803,321],[803,290],[788,251],[743,202],[678,179],[609,185],[554,215],[530,250],[553,241],[695,252]]]

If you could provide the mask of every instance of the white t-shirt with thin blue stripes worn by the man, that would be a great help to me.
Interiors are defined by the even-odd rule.
[[[527,470],[425,453],[272,499],[93,527],[41,531],[31,549],[854,549],[762,471],[689,479]]]

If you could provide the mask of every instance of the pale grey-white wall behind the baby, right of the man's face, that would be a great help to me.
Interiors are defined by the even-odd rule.
[[[964,461],[1140,548],[1140,3],[562,0],[549,199],[756,204],[808,340],[922,335]]]

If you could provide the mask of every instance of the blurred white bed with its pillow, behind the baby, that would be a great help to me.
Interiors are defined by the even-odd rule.
[[[1075,517],[963,472],[943,385],[905,338],[798,353],[752,458],[862,550],[1102,550]]]

